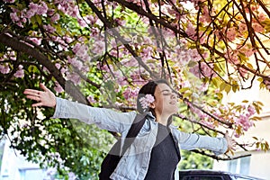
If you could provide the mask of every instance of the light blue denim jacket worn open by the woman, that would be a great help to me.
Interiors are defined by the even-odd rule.
[[[136,112],[116,112],[110,109],[87,106],[81,103],[70,102],[57,97],[57,105],[52,118],[73,118],[87,124],[96,124],[104,130],[120,132],[125,137],[130,130]],[[157,121],[149,112],[138,136],[126,150],[123,157],[111,175],[113,180],[143,180],[148,172],[151,149],[157,137]],[[177,130],[169,126],[175,143],[179,149],[206,148],[216,155],[227,150],[227,140],[224,138],[211,138],[194,133]],[[175,168],[175,180],[179,179]]]

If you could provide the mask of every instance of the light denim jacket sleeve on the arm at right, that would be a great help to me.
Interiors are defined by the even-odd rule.
[[[225,138],[213,138],[180,130],[178,132],[178,140],[183,149],[205,148],[211,150],[215,155],[220,155],[227,151],[228,144]]]

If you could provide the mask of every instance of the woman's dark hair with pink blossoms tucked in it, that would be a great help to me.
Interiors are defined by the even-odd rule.
[[[156,91],[157,85],[159,85],[159,84],[166,84],[166,85],[170,86],[165,79],[159,79],[159,80],[156,80],[156,81],[150,80],[150,81],[148,81],[147,84],[143,85],[139,89],[139,94],[138,94],[138,97],[137,97],[137,111],[139,113],[152,112],[152,114],[156,117],[155,110],[153,108],[150,108],[150,107],[148,107],[148,109],[144,109],[141,106],[141,103],[139,103],[139,98],[144,97],[146,94],[151,94],[151,95],[154,96],[154,98],[156,98],[155,97],[155,91]],[[172,117],[169,117],[169,119],[167,121],[167,125],[171,124],[171,122],[172,122]]]

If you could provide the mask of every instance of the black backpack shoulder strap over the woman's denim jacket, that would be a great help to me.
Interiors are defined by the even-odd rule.
[[[145,113],[144,114],[138,113],[136,115],[134,121],[131,124],[129,132],[128,132],[126,138],[124,139],[124,144],[123,144],[123,147],[121,149],[121,156],[125,153],[127,148],[130,147],[130,145],[132,144],[134,139],[137,137],[139,130],[142,128],[142,126],[146,120],[146,115],[147,114],[145,114]]]

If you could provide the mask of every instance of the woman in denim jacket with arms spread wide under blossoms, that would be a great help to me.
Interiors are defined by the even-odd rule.
[[[53,118],[74,118],[85,123],[95,123],[105,130],[120,132],[127,136],[137,112],[115,112],[109,109],[90,107],[56,97],[45,85],[43,91],[25,89],[26,97],[35,100],[32,106],[55,108]],[[140,101],[153,96],[153,101]],[[150,98],[149,98],[150,99]],[[228,134],[224,138],[211,138],[194,133],[185,133],[171,125],[172,115],[177,112],[177,95],[164,80],[149,81],[139,90],[137,99],[139,113],[146,113],[146,121],[136,139],[121,157],[112,175],[113,180],[173,180],[178,178],[177,164],[180,148],[206,148],[216,155],[232,148]]]

